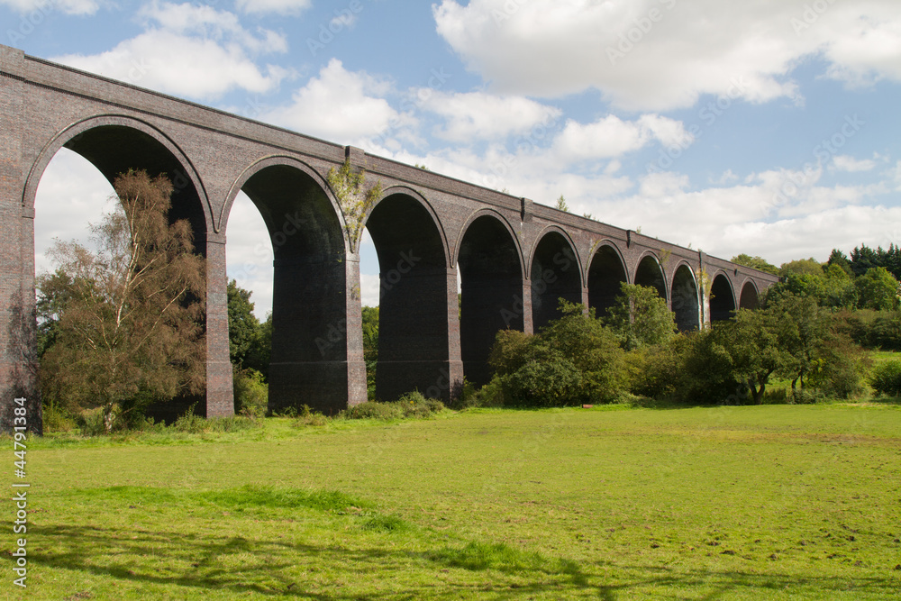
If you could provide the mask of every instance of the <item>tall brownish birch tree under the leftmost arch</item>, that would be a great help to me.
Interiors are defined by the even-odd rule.
[[[56,273],[38,279],[66,299],[42,386],[103,407],[107,431],[120,411],[205,387],[205,265],[187,221],[168,221],[172,184],[129,171],[114,188],[114,211],[91,228],[98,250],[58,241]]]

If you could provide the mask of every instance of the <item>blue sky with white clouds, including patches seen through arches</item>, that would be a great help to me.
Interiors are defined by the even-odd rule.
[[[897,0],[0,0],[0,23],[32,56],[724,259],[901,242]],[[111,193],[59,152],[39,272]],[[249,199],[234,211],[229,275],[262,316],[268,237]]]

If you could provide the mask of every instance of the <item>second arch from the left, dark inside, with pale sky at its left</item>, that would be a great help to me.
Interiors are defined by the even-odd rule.
[[[262,215],[274,255],[269,409],[310,405],[334,414],[349,403],[341,212],[314,169],[268,157],[232,185],[220,216],[223,230],[241,190]]]

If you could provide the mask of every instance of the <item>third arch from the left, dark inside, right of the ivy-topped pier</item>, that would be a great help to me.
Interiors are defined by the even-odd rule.
[[[380,272],[376,396],[391,401],[418,389],[449,400],[457,277],[432,207],[410,192],[388,190],[366,215]]]

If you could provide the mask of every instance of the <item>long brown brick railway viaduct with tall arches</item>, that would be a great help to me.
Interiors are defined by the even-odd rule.
[[[128,168],[173,178],[173,212],[192,224],[207,260],[208,415],[233,411],[225,237],[241,190],[262,214],[275,255],[270,406],[334,412],[365,400],[359,241],[326,181],[346,159],[382,187],[362,219],[381,271],[377,394],[384,400],[414,388],[446,399],[464,375],[484,382],[496,330],[537,330],[561,296],[603,313],[621,281],[653,286],[687,330],[755,306],[775,281],[697,250],[5,46],[0,107],[7,418],[14,396],[27,396],[32,415],[40,415],[33,222],[36,210],[40,218],[52,208],[35,207],[34,198],[62,147],[111,180]]]

